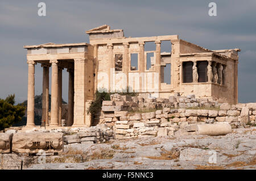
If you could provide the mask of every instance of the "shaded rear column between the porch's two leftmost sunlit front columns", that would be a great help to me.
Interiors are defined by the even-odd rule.
[[[49,112],[49,65],[41,64],[43,67],[43,96],[42,96],[42,120],[46,121],[49,125],[48,112]],[[42,122],[42,125],[44,123]]]

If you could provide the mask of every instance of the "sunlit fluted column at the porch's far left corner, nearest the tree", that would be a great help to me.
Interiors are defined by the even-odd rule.
[[[27,127],[34,127],[35,111],[35,62],[28,61],[28,83],[27,83]]]

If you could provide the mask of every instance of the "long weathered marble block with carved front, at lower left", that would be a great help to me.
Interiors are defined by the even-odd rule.
[[[14,153],[62,153],[64,149],[63,133],[16,133],[13,136]]]

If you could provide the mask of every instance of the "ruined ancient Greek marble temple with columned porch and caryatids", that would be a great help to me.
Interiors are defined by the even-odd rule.
[[[94,91],[136,91],[140,95],[168,98],[195,94],[219,102],[238,102],[238,52],[209,50],[177,35],[125,37],[108,25],[86,31],[90,43],[26,45],[28,64],[27,126],[34,127],[35,65],[43,68],[42,119],[61,125],[62,72],[69,73],[68,120],[73,127],[91,125],[87,108]],[[145,44],[154,43],[153,50]],[[163,43],[170,43],[163,52]],[[51,68],[51,92],[49,92]],[[168,71],[167,71],[168,70]],[[166,81],[168,79],[168,81]],[[48,113],[51,93],[51,113]]]

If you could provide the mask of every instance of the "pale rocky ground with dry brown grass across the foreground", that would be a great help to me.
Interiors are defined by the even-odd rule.
[[[46,157],[0,155],[0,169],[256,169],[256,127],[226,136],[166,136],[69,144]],[[46,158],[46,163],[44,163]],[[41,163],[41,164],[38,164]]]

